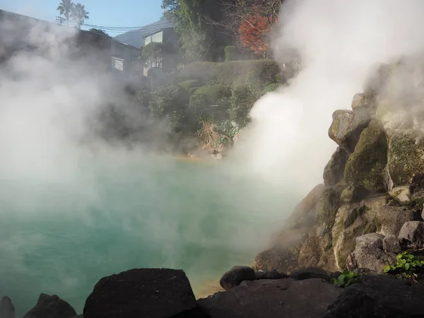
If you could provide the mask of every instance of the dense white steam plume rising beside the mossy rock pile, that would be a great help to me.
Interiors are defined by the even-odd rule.
[[[302,194],[322,182],[336,148],[327,135],[332,112],[351,108],[376,63],[423,51],[423,9],[420,0],[286,0],[274,52],[283,63],[298,50],[302,68],[251,111],[254,124],[239,151],[252,170]]]

